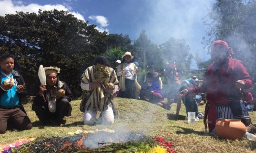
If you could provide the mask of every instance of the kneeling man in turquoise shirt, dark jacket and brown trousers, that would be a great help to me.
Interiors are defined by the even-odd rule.
[[[26,96],[27,88],[24,79],[14,71],[14,57],[2,55],[0,57],[0,134],[9,128],[18,130],[32,129],[31,121],[22,106],[22,97]]]

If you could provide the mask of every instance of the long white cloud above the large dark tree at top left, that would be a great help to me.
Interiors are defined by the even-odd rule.
[[[22,1],[12,1],[12,0],[2,0],[0,1],[0,15],[4,16],[5,14],[15,14],[16,11],[23,11],[23,12],[35,12],[37,13],[38,10],[41,9],[42,11],[49,11],[53,9],[57,10],[64,10],[68,11],[69,8],[65,7],[62,4],[56,4],[56,5],[40,5],[36,3],[29,4],[25,6]],[[79,20],[84,20],[85,18],[78,12],[70,12],[75,17],[77,17]]]

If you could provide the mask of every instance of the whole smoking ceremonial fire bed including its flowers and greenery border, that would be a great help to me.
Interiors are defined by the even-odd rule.
[[[19,148],[2,151],[2,153],[31,152],[132,152],[132,153],[174,153],[171,142],[162,137],[147,137],[136,132],[116,132],[109,129],[95,131],[75,131],[70,136],[36,138]],[[0,151],[1,153],[1,151]]]

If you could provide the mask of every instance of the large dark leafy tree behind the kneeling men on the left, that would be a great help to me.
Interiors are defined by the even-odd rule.
[[[0,24],[0,54],[18,59],[28,85],[36,81],[40,64],[58,66],[60,79],[75,96],[80,95],[82,72],[97,55],[113,46],[129,48],[131,42],[129,37],[101,33],[68,11],[17,12],[0,16]]]

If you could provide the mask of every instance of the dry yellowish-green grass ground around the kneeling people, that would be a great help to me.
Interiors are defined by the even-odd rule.
[[[27,114],[33,123],[33,129],[27,131],[7,131],[0,135],[0,143],[15,142],[22,138],[37,138],[40,136],[67,136],[68,132],[77,130],[114,129],[142,132],[147,136],[163,136],[170,141],[177,153],[255,153],[256,142],[243,140],[225,140],[218,137],[207,136],[204,132],[203,120],[194,125],[184,123],[185,106],[180,109],[180,116],[175,117],[176,104],[170,111],[145,101],[134,99],[115,98],[120,116],[110,126],[83,125],[83,113],[79,110],[80,100],[72,101],[72,116],[65,117],[66,125],[59,127],[43,126],[34,111],[31,103],[24,105]],[[199,106],[204,111],[205,106]],[[256,122],[256,112],[249,112],[252,121]]]

